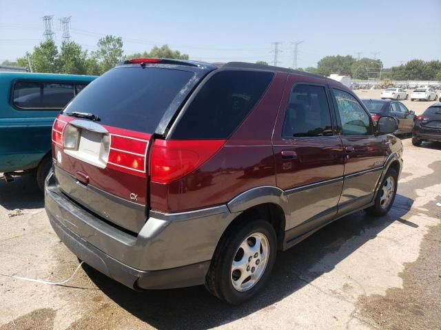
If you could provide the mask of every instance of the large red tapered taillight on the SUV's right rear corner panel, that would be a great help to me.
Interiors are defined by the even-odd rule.
[[[225,140],[156,140],[150,160],[152,182],[168,184],[207,162]]]

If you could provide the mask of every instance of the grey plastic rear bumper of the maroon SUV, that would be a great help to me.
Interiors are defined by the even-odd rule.
[[[134,289],[205,283],[214,250],[237,214],[227,206],[193,212],[150,212],[138,236],[127,234],[76,205],[46,179],[45,210],[61,241],[79,259]]]

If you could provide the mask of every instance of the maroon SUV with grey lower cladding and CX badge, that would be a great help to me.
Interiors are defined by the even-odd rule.
[[[54,122],[45,208],[79,259],[128,287],[205,284],[238,304],[277,250],[351,212],[389,211],[396,129],[321,76],[125,61]]]

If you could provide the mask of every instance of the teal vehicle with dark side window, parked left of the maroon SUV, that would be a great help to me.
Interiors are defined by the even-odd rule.
[[[54,119],[95,78],[0,72],[0,173],[7,181],[36,172],[37,184],[43,189],[52,165]]]

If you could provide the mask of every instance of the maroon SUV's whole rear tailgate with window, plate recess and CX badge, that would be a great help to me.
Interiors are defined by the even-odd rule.
[[[153,133],[176,98],[189,93],[193,77],[180,69],[117,67],[74,98],[52,131],[63,194],[103,221],[139,233],[148,210]]]

